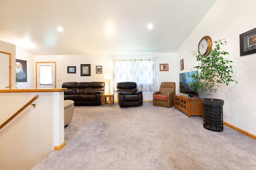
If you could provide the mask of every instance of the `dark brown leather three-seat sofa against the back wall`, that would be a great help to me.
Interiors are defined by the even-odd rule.
[[[65,82],[64,100],[73,100],[74,106],[100,106],[105,82]]]

